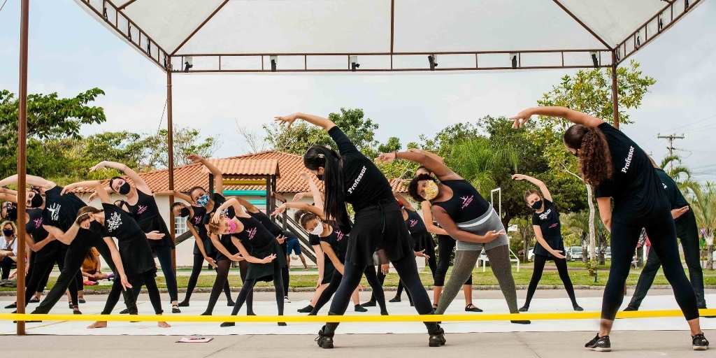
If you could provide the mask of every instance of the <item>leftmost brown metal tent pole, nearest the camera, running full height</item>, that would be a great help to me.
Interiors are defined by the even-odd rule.
[[[30,1],[20,1],[20,88],[17,114],[17,313],[25,313],[25,149],[27,147],[27,32]],[[25,335],[25,322],[17,321],[17,335]]]

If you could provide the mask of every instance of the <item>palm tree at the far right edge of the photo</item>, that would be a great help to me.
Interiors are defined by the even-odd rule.
[[[706,269],[713,270],[714,234],[716,233],[716,185],[706,183],[706,185],[696,187],[694,197],[689,200],[696,216],[696,222],[702,228],[706,241]]]

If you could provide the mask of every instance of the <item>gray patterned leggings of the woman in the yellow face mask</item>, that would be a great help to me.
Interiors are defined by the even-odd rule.
[[[448,283],[445,284],[445,289],[442,289],[440,303],[437,305],[435,314],[445,313],[445,310],[448,309],[448,306],[453,302],[455,296],[458,296],[458,292],[463,288],[465,281],[473,274],[475,263],[478,261],[481,252],[482,251],[472,250],[455,251],[455,266],[453,266],[453,272],[450,274]],[[515,289],[515,279],[512,277],[509,246],[502,245],[490,248],[490,250],[486,250],[485,253],[487,253],[490,259],[490,268],[500,284],[500,289],[502,289],[502,294],[505,296],[505,301],[507,301],[507,305],[510,307],[510,313],[518,313],[517,291]]]

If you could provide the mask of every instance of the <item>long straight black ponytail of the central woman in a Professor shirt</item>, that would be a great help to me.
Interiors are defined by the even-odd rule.
[[[345,188],[341,156],[329,147],[314,145],[304,155],[304,166],[310,170],[323,167],[323,183],[326,188],[324,213],[326,220],[341,223],[346,215]]]

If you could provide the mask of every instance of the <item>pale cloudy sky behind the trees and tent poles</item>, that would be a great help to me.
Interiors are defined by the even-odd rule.
[[[4,0],[0,0],[1,2]],[[73,96],[92,87],[107,95],[97,101],[108,121],[85,134],[113,130],[153,132],[162,118],[166,77],[154,64],[111,34],[72,0],[32,0],[29,91]],[[19,1],[0,11],[0,88],[17,92]],[[705,1],[634,59],[657,79],[624,132],[654,158],[667,153],[657,133],[682,133],[674,143],[698,180],[716,177],[716,5]],[[260,130],[274,115],[312,112],[328,115],[360,107],[379,123],[377,139],[434,135],[455,122],[484,115],[513,115],[536,105],[563,74],[479,72],[395,76],[183,75],[174,79],[174,120],[202,135],[219,135],[217,156],[248,149],[236,122]]]

